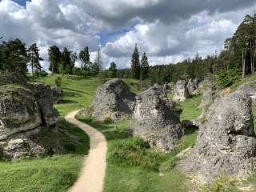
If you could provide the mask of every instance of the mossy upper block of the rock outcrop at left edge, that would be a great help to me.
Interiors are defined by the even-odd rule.
[[[1,86],[0,139],[42,124],[38,103],[31,90],[22,87]]]

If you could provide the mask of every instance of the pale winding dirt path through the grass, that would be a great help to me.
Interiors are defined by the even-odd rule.
[[[102,133],[93,127],[79,122],[74,118],[78,111],[67,114],[65,119],[90,136],[89,155],[84,159],[84,167],[78,181],[70,192],[102,192],[106,170],[106,139]]]

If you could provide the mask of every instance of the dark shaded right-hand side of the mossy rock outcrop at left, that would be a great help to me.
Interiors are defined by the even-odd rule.
[[[58,110],[54,109],[50,86],[38,82],[29,85],[37,99],[42,122],[46,123],[46,126],[55,126],[59,121],[59,114]]]

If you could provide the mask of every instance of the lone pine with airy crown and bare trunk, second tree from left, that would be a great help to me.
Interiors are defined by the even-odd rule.
[[[43,59],[40,58],[39,55],[39,49],[36,43],[32,44],[28,49],[28,57],[30,59],[30,66],[32,69],[32,77],[34,78],[34,69],[35,70],[41,70],[42,66],[40,64],[40,61]]]

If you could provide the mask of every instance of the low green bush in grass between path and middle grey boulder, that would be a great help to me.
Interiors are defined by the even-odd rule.
[[[116,166],[141,166],[158,170],[158,166],[166,158],[165,154],[150,150],[148,142],[139,138],[115,142],[110,146],[109,151],[107,159]]]

